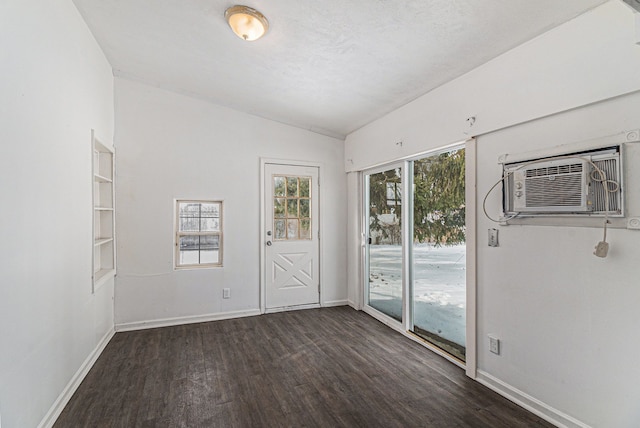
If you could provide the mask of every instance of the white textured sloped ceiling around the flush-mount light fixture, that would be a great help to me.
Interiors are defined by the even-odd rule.
[[[73,0],[116,76],[343,137],[607,0]],[[244,1],[244,0],[243,0]]]

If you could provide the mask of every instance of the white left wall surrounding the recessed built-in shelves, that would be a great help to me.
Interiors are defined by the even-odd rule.
[[[91,129],[112,137],[113,77],[71,1],[3,0],[0,64],[0,408],[29,428],[113,331],[113,282],[91,294]]]

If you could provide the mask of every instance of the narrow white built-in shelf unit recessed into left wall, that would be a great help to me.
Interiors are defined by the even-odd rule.
[[[91,133],[93,152],[93,292],[116,274],[115,152]]]

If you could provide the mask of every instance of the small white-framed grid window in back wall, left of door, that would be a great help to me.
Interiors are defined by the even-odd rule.
[[[176,268],[222,266],[222,201],[176,201]]]

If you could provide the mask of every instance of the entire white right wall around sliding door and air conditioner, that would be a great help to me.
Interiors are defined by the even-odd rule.
[[[347,171],[479,136],[481,203],[500,177],[499,154],[640,128],[634,21],[611,1],[365,126],[347,137]],[[477,117],[472,128],[469,116]],[[639,426],[640,233],[610,231],[605,260],[591,254],[602,230],[586,227],[502,227],[501,247],[488,248],[495,225],[481,207],[476,215],[479,379],[557,423]],[[359,239],[355,223],[350,240]],[[356,251],[351,244],[350,260]],[[349,265],[350,299],[357,269]],[[502,355],[488,352],[489,333],[502,340]]]

